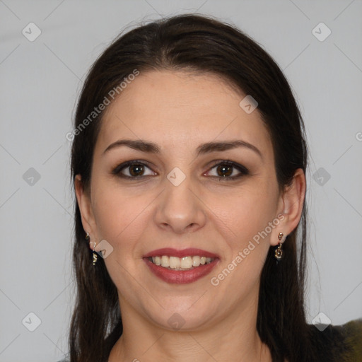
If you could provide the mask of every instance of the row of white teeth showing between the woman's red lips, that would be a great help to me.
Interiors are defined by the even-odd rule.
[[[188,257],[169,257],[161,255],[159,257],[148,257],[148,260],[159,267],[170,270],[191,270],[196,269],[200,265],[210,264],[214,262],[213,257],[200,257],[199,255]]]

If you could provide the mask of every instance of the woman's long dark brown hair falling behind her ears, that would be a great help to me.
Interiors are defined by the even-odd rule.
[[[94,107],[134,70],[191,70],[222,76],[257,100],[269,130],[279,188],[290,185],[298,168],[308,163],[305,129],[285,76],[276,62],[238,28],[210,16],[186,14],[163,18],[119,35],[93,64],[83,85],[74,121],[71,182],[81,174],[89,191],[93,150],[103,112],[89,118]],[[122,96],[122,94],[120,95]],[[86,127],[84,120],[87,119]],[[325,348],[322,356],[313,344],[313,330],[305,319],[305,250],[307,208],[298,229],[284,243],[284,259],[276,264],[271,247],[262,269],[257,332],[271,351],[273,361],[334,361]],[[297,238],[298,232],[298,238]],[[71,362],[107,361],[122,334],[117,288],[105,263],[92,254],[84,239],[81,214],[75,202],[74,271],[76,305],[71,319]],[[297,242],[298,239],[298,242]],[[322,335],[322,332],[317,331]]]

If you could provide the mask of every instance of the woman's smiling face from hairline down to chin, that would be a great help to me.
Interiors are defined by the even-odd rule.
[[[194,330],[257,310],[269,247],[293,226],[269,133],[244,97],[212,74],[151,71],[108,106],[91,192],[77,197],[122,313]]]

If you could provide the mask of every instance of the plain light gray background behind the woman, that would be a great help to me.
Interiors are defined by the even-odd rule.
[[[312,156],[308,320],[362,316],[361,1],[0,0],[0,361],[57,361],[67,351],[74,198],[65,135],[86,71],[126,25],[197,10],[262,44],[297,95]],[[30,22],[42,31],[33,42],[22,34]],[[320,22],[332,30],[322,42],[312,33]],[[23,180],[29,168],[40,174],[34,185]],[[320,168],[324,185],[313,179]],[[22,324],[30,312],[41,320],[34,332]]]

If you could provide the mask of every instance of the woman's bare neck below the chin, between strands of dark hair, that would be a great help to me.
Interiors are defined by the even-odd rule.
[[[163,329],[134,313],[130,305],[122,303],[121,309],[124,332],[109,362],[271,362],[256,329],[257,300],[214,325],[192,331]]]

